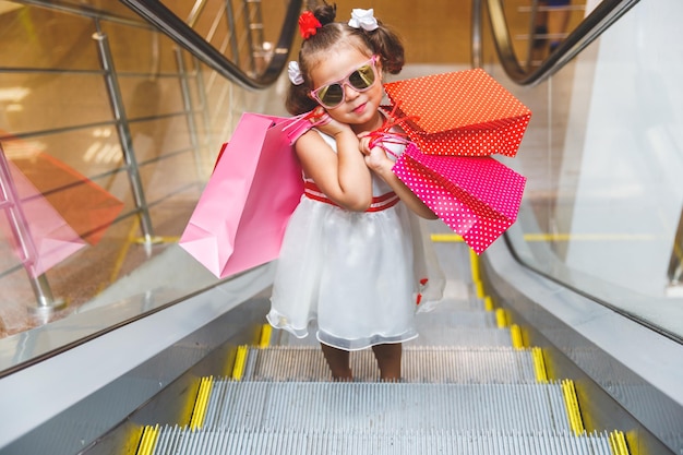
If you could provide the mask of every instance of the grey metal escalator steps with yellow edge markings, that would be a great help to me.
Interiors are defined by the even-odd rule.
[[[452,297],[418,315],[400,383],[379,381],[370,350],[352,352],[354,382],[332,382],[319,346],[264,325],[229,375],[157,398],[193,400],[192,412],[144,421],[135,453],[628,454],[623,432],[585,430],[574,382],[549,378],[543,350],[481,295],[477,256],[464,243],[440,251]]]

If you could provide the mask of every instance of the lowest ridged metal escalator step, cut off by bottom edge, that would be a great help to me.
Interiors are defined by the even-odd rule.
[[[154,455],[612,455],[607,432],[197,430],[166,427]]]

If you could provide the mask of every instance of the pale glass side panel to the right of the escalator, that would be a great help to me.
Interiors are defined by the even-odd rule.
[[[683,5],[660,7],[636,4],[548,82],[508,86],[534,112],[519,154],[505,160],[528,178],[508,238],[534,268],[683,338],[671,272],[681,258],[683,65],[670,57],[683,35],[662,27]]]

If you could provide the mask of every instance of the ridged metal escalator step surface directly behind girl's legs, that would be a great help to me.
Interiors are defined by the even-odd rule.
[[[370,349],[351,354],[358,382],[379,381]],[[243,381],[329,381],[329,369],[319,347],[250,348]],[[403,351],[404,382],[536,383],[530,350],[506,347],[463,348],[408,346]]]

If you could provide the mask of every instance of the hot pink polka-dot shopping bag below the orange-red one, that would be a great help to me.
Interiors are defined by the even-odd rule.
[[[517,218],[526,178],[490,156],[438,156],[406,146],[394,173],[481,254]]]

